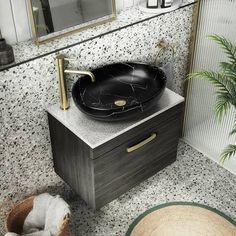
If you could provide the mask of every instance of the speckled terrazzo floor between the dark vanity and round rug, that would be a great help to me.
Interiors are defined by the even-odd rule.
[[[142,212],[171,201],[197,202],[236,220],[236,176],[180,141],[177,161],[93,212],[70,200],[75,236],[123,236]]]

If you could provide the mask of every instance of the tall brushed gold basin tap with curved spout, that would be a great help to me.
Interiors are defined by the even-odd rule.
[[[92,82],[95,82],[95,76],[90,71],[80,71],[74,69],[65,69],[65,61],[71,61],[71,59],[66,58],[64,55],[59,54],[56,56],[56,67],[57,67],[57,76],[59,79],[59,89],[60,89],[60,108],[62,110],[67,110],[70,107],[65,74],[78,74],[78,75],[88,75],[91,78]]]

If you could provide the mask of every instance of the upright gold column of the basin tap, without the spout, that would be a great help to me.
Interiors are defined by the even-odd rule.
[[[67,97],[64,64],[65,64],[64,57],[62,55],[57,56],[56,67],[57,67],[57,76],[59,80],[60,108],[65,111],[70,107],[70,105]]]

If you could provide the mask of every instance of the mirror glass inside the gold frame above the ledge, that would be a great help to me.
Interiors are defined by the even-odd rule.
[[[37,37],[115,14],[113,0],[31,0]]]

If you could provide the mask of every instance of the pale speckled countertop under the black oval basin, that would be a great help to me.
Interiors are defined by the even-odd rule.
[[[59,107],[59,103],[49,106],[46,110],[77,137],[94,149],[183,101],[183,97],[166,88],[151,115],[128,122],[93,120],[79,111],[72,100],[70,101],[71,106],[67,111],[62,111]]]

